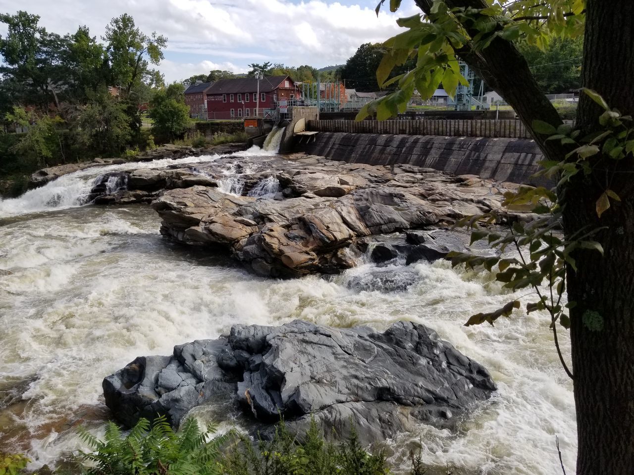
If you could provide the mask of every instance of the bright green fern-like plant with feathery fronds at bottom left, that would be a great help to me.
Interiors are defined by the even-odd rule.
[[[201,431],[195,419],[187,419],[177,433],[164,416],[152,424],[139,419],[129,434],[108,423],[103,440],[82,429],[81,438],[93,452],[81,452],[91,462],[88,475],[216,475],[216,460],[225,436],[211,438],[215,428]]]

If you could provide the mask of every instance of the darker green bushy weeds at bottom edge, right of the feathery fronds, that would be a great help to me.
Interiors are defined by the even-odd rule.
[[[325,441],[314,419],[298,443],[280,422],[270,441],[235,434],[220,460],[226,475],[387,475],[383,451],[368,453],[356,431],[335,446]]]

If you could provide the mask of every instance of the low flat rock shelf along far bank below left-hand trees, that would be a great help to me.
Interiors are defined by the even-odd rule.
[[[79,170],[85,170],[86,168],[93,167],[105,167],[107,165],[121,165],[129,162],[152,162],[152,160],[162,160],[164,158],[171,158],[176,160],[185,156],[200,156],[210,155],[213,153],[225,154],[240,151],[245,149],[245,144],[223,144],[207,148],[194,148],[188,146],[176,146],[172,144],[166,144],[164,146],[157,147],[152,150],[146,150],[140,153],[130,160],[124,160],[124,158],[95,158],[91,162],[78,162],[78,163],[66,163],[65,165],[56,165],[55,167],[42,168],[37,170],[31,175],[29,181],[30,188],[36,188],[47,184],[49,181],[53,181],[62,175],[77,172]]]

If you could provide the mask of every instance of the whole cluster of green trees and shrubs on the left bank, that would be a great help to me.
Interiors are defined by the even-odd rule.
[[[0,15],[0,170],[75,161],[86,155],[120,155],[146,148],[155,137],[142,130],[149,110],[152,134],[174,139],[186,127],[184,85],[165,85],[155,69],[167,38],[142,32],[123,14],[100,40],[80,26],[72,34],[49,32],[26,11]]]

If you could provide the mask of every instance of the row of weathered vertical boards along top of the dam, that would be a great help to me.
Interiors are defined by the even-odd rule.
[[[564,121],[570,124],[573,121]],[[441,137],[532,139],[521,120],[308,120],[307,130]]]

